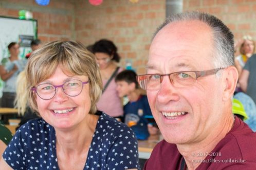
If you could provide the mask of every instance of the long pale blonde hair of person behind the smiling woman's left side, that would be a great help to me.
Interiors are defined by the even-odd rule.
[[[20,72],[16,80],[16,97],[14,100],[15,108],[18,110],[19,115],[24,115],[27,108],[27,80],[25,71]]]

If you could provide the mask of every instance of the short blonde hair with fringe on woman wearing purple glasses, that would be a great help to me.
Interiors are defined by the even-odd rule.
[[[90,114],[95,114],[96,103],[102,92],[102,80],[96,59],[85,46],[76,41],[53,41],[35,50],[28,59],[25,68],[27,78],[27,96],[32,110],[38,112],[33,87],[49,78],[57,67],[63,72],[88,76],[90,82]]]

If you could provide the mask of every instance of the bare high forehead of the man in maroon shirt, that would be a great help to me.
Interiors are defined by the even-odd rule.
[[[166,73],[179,68],[189,71],[212,69],[213,49],[212,30],[205,23],[197,20],[171,23],[153,39],[147,70]]]

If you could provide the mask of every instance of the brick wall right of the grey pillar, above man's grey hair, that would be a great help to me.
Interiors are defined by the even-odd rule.
[[[211,13],[234,33],[235,40],[251,35],[256,40],[255,0],[184,0],[184,11],[198,10]]]

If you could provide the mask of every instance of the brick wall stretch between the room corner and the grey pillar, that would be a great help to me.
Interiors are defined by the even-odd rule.
[[[165,1],[105,0],[92,6],[82,0],[76,1],[75,9],[77,40],[90,45],[111,39],[122,57],[121,66],[131,59],[136,71],[144,73],[151,37],[165,18]]]

